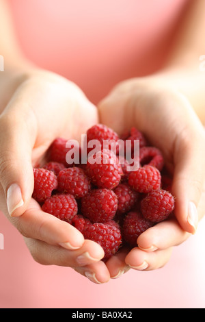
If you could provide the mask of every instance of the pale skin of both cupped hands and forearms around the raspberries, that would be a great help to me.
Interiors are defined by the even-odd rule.
[[[205,211],[205,72],[198,60],[205,53],[205,2],[193,1],[188,9],[164,68],[118,84],[96,108],[78,86],[25,60],[6,3],[0,1],[6,62],[0,73],[0,205],[40,264],[72,267],[94,283],[105,283],[130,268],[163,267],[173,247],[196,232]],[[119,134],[131,126],[144,132],[163,151],[176,197],[176,218],[150,228],[136,240],[138,247],[122,249],[106,264],[98,244],[43,213],[31,198],[32,166],[43,162],[53,139],[78,139],[98,122]]]

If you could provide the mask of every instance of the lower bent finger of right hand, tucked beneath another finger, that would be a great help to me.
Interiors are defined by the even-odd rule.
[[[172,255],[172,248],[150,253],[133,248],[125,258],[126,264],[137,271],[152,271],[165,266]]]

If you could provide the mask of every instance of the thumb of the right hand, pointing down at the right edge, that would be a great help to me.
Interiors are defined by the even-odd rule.
[[[199,221],[198,205],[205,180],[204,129],[185,129],[174,147],[174,180],[172,193],[176,197],[175,214],[184,230],[194,234]],[[200,130],[201,129],[201,130]]]

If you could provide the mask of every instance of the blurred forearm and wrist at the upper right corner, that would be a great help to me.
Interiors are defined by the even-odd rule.
[[[205,1],[189,1],[174,38],[172,50],[157,76],[182,92],[205,124]]]

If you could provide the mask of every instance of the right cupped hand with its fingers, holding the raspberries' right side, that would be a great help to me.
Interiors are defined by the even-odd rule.
[[[172,249],[197,229],[205,212],[204,127],[189,101],[158,77],[130,79],[120,83],[99,105],[100,123],[123,134],[137,127],[150,143],[161,149],[172,172],[174,218],[143,232],[136,247],[123,249],[107,262],[111,277],[128,270],[163,267]]]

